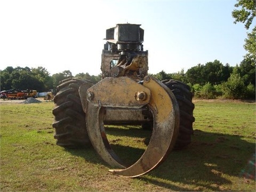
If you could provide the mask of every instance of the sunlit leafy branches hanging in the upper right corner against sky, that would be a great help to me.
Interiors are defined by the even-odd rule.
[[[232,12],[232,17],[235,19],[234,23],[242,22],[244,27],[248,30],[256,16],[256,1],[255,0],[237,0],[235,9]],[[249,58],[256,62],[256,26],[252,28],[251,33],[247,32],[244,49],[247,51],[245,58]]]

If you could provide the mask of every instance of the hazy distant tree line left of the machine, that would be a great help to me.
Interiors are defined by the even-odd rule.
[[[1,70],[0,70],[1,71]],[[101,80],[101,75],[94,76],[88,73],[79,73],[72,75],[70,70],[64,70],[62,73],[50,75],[49,71],[44,67],[6,67],[1,71],[1,91],[19,89],[19,90],[37,90],[38,92],[46,92],[55,89],[59,82],[67,78],[82,78],[92,81],[94,84]]]

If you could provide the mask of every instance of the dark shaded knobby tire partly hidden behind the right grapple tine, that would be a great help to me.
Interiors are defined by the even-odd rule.
[[[195,105],[192,102],[193,93],[190,92],[190,87],[187,84],[180,81],[167,79],[162,82],[169,87],[179,104],[180,129],[174,149],[181,149],[189,145],[191,142],[191,134],[194,132],[193,122],[195,122],[195,118],[193,111]]]

